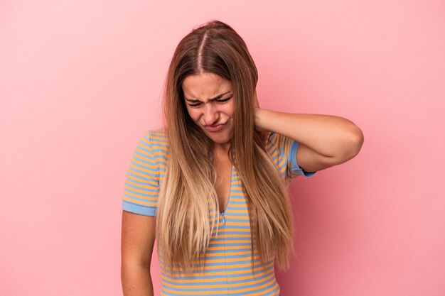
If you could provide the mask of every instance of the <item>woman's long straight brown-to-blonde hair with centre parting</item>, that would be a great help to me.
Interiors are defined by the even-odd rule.
[[[164,266],[191,273],[203,263],[217,226],[209,217],[212,211],[219,211],[209,158],[213,143],[188,115],[181,87],[186,77],[201,72],[232,83],[235,114],[229,158],[247,194],[252,250],[263,263],[275,256],[279,267],[285,268],[293,250],[291,206],[284,181],[264,147],[265,135],[254,130],[257,68],[244,40],[220,21],[205,23],[181,40],[166,77],[163,109],[168,165],[156,212]]]

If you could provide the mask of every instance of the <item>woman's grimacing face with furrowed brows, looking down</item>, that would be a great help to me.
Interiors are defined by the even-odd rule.
[[[204,133],[222,148],[233,136],[232,84],[213,73],[186,77],[182,83],[188,114]]]

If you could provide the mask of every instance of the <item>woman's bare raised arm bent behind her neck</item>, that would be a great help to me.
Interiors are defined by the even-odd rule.
[[[363,145],[360,128],[338,116],[290,114],[258,107],[255,109],[255,128],[299,142],[296,161],[306,172],[345,163],[357,155]]]

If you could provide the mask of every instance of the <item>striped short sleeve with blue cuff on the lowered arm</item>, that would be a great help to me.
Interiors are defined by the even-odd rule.
[[[125,180],[122,209],[146,216],[156,215],[159,182],[166,167],[163,135],[148,131],[136,146]]]

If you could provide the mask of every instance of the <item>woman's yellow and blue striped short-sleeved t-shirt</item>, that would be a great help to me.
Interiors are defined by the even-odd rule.
[[[298,175],[313,175],[303,172],[296,163],[298,142],[270,133],[265,146],[286,184]],[[141,138],[127,172],[122,209],[149,216],[156,214],[159,182],[163,182],[168,162],[167,150],[164,131],[148,131]],[[245,192],[232,166],[230,196],[224,212],[220,213],[218,229],[210,239],[204,267],[193,270],[193,276],[164,272],[160,250],[161,295],[279,295],[274,261],[262,265],[255,252],[252,265],[250,234]]]

